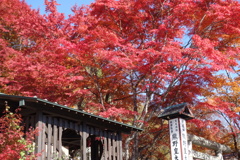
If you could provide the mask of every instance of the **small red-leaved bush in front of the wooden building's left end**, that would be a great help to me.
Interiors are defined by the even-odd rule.
[[[32,160],[34,154],[33,140],[37,131],[24,133],[22,119],[18,113],[8,111],[0,117],[0,159]]]

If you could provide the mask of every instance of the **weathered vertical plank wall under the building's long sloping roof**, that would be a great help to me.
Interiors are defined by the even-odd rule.
[[[28,130],[31,126],[37,127],[39,134],[36,137],[36,153],[42,153],[38,160],[61,159],[64,155],[62,152],[62,134],[66,129],[72,129],[81,135],[81,159],[88,160],[87,138],[95,135],[101,137],[103,144],[104,160],[122,160],[122,138],[121,133],[101,130],[89,126],[86,123],[72,122],[66,119],[51,117],[38,112],[36,115],[24,117],[25,128]]]

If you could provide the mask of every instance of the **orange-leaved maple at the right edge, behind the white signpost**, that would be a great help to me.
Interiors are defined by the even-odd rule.
[[[216,134],[211,135],[211,139],[220,141],[220,143],[231,146],[235,157],[240,157],[239,133],[240,133],[240,106],[239,106],[239,73],[235,72],[226,75],[218,75],[215,83],[206,88],[204,91],[207,101],[202,109],[204,119],[210,119],[217,122],[215,129]],[[219,127],[221,126],[221,127]],[[217,136],[216,136],[217,135]]]

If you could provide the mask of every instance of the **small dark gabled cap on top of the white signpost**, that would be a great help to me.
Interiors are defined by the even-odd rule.
[[[181,103],[173,106],[169,106],[164,109],[163,113],[158,116],[158,118],[162,119],[174,119],[174,118],[182,118],[185,120],[193,119],[194,115],[188,107],[187,103]]]

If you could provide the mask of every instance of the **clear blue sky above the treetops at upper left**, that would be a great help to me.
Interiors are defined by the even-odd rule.
[[[27,4],[31,5],[34,9],[40,9],[41,14],[45,13],[45,6],[44,6],[44,0],[25,0]],[[71,14],[71,7],[77,4],[78,6],[81,5],[89,5],[91,2],[94,2],[95,0],[56,0],[59,5],[58,11],[61,13],[65,13],[65,15]]]

